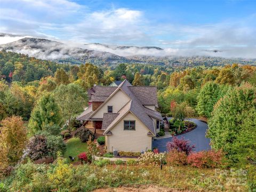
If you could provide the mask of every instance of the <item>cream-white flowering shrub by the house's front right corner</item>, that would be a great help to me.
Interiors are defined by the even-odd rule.
[[[146,152],[141,154],[139,157],[139,164],[141,165],[159,165],[162,161],[165,161],[165,154],[159,153],[155,154],[154,152]]]

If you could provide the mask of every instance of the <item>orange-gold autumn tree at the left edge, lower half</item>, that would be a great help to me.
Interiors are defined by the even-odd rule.
[[[19,161],[26,142],[26,127],[21,117],[7,117],[0,122],[0,172],[4,171],[6,166],[15,165]]]

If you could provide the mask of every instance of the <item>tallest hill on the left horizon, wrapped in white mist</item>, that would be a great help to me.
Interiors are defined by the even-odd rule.
[[[43,38],[22,38],[15,42],[0,45],[0,49],[28,54],[38,59],[60,62],[99,62],[98,64],[130,62],[129,59],[113,53],[81,49]]]

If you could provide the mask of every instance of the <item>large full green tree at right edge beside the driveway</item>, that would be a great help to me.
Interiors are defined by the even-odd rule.
[[[212,117],[209,119],[207,137],[211,139],[214,149],[223,149],[229,159],[238,161],[237,145],[239,135],[247,132],[247,117],[250,111],[256,109],[256,89],[249,83],[242,84],[227,92],[214,106]],[[255,127],[254,127],[255,131]],[[255,132],[254,132],[255,134]]]

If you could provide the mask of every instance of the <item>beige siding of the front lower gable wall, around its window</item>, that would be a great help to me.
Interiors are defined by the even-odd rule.
[[[135,131],[124,130],[124,120],[135,120]],[[112,135],[108,136],[108,151],[132,151],[140,152],[152,148],[152,137],[147,133],[147,127],[132,113],[125,115],[111,130]]]

